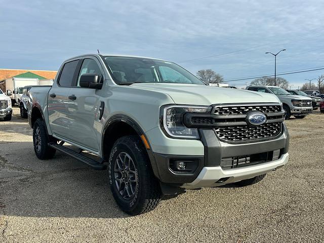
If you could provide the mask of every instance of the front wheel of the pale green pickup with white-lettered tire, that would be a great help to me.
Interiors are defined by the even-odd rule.
[[[158,205],[159,183],[139,137],[119,138],[111,149],[108,168],[110,188],[121,210],[139,215]]]

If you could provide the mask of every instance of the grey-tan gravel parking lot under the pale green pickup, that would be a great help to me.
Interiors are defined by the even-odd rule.
[[[255,185],[189,190],[130,217],[107,171],[38,160],[27,119],[0,121],[0,242],[323,242],[324,114],[286,121],[288,166]]]

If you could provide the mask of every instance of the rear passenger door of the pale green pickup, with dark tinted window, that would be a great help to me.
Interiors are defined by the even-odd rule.
[[[68,112],[69,90],[76,78],[76,67],[79,60],[66,62],[61,69],[57,83],[54,83],[48,98],[48,112],[50,127],[54,137],[68,138],[71,120]]]

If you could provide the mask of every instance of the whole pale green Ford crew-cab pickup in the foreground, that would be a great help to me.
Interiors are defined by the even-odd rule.
[[[175,63],[142,57],[73,57],[52,87],[28,92],[37,157],[60,150],[108,168],[112,194],[131,215],[180,188],[249,185],[286,165],[284,118],[272,94],[210,87]]]

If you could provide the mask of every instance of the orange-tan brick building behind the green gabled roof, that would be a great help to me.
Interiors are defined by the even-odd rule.
[[[47,71],[47,70],[29,70],[29,69],[0,69],[0,89],[6,90],[5,84],[2,82],[9,77],[16,76],[21,73],[32,72],[39,76],[45,77],[47,79],[55,78],[57,71]]]

